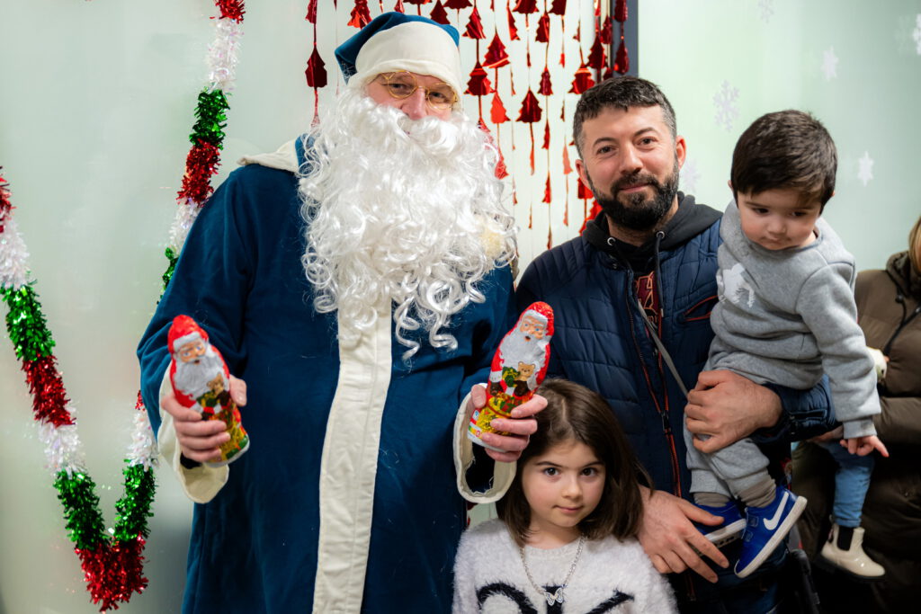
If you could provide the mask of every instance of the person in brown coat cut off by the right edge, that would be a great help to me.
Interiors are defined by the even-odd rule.
[[[880,378],[882,413],[877,433],[890,457],[878,457],[863,507],[864,550],[886,573],[880,581],[852,585],[843,573],[822,577],[822,605],[834,610],[845,598],[866,599],[846,611],[918,611],[921,603],[921,218],[908,235],[908,250],[893,254],[885,271],[857,276],[857,312],[867,344],[885,356]],[[794,491],[809,499],[800,521],[804,549],[814,562],[828,534],[834,466],[818,446],[804,443],[794,453]],[[824,581],[823,581],[824,580]],[[822,585],[832,590],[822,591]],[[840,610],[845,611],[845,610]]]

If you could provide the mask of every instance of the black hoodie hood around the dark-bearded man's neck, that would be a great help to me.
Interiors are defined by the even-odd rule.
[[[660,251],[681,247],[705,228],[713,226],[722,213],[705,204],[694,202],[694,196],[678,192],[678,211],[654,237],[640,246],[630,245],[611,236],[608,217],[603,211],[586,224],[582,239],[593,248],[610,254],[635,272],[646,274],[655,268]]]

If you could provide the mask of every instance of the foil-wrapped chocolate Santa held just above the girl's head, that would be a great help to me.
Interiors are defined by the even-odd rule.
[[[467,436],[480,446],[484,433],[499,433],[495,417],[508,418],[511,411],[534,395],[550,362],[550,338],[554,334],[554,310],[546,303],[531,303],[515,328],[509,330],[493,356],[486,387],[486,405],[475,410]]]

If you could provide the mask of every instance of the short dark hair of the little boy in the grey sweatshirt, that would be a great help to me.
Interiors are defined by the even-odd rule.
[[[800,202],[825,203],[834,193],[838,155],[822,122],[801,110],[780,110],[755,120],[732,152],[732,194],[793,189]]]

